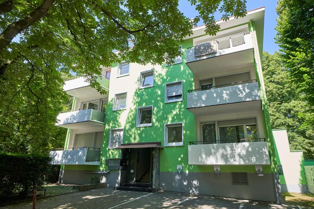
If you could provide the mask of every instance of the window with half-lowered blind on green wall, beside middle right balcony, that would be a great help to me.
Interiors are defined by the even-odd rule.
[[[182,100],[182,81],[165,85],[165,103]]]

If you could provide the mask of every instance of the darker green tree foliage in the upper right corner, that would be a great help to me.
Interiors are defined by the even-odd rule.
[[[276,40],[282,48],[283,63],[306,102],[314,107],[313,1],[279,0],[276,11]]]

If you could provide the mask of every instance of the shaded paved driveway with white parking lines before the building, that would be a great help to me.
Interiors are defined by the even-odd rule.
[[[2,208],[31,208],[31,202]],[[298,208],[268,202],[247,201],[171,191],[154,193],[113,191],[112,187],[76,192],[36,201],[36,208]]]

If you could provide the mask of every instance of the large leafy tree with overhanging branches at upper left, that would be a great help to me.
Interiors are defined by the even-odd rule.
[[[221,0],[190,0],[215,34]],[[245,0],[224,0],[219,11],[243,17]],[[0,146],[9,152],[47,150],[60,132],[57,113],[68,101],[62,73],[96,82],[101,66],[127,60],[168,64],[192,22],[178,0],[6,0],[0,3]],[[130,48],[131,47],[131,48]],[[118,53],[114,53],[118,51]]]

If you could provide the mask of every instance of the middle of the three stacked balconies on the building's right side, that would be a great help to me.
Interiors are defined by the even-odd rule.
[[[258,83],[253,81],[256,80],[226,84],[223,85],[224,87],[213,86],[212,89],[203,91],[202,89],[189,90],[187,110],[194,115],[204,115],[260,109],[261,97]]]

